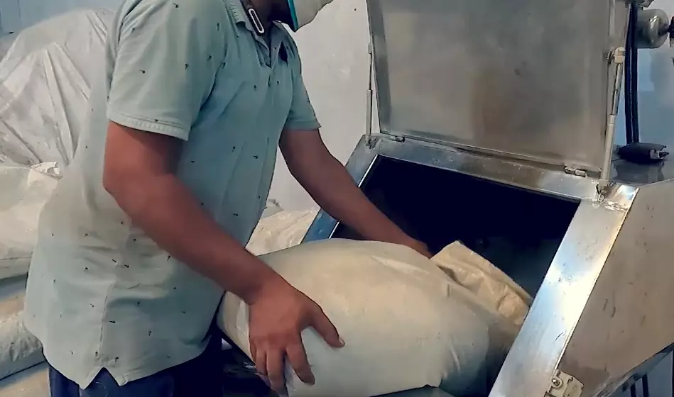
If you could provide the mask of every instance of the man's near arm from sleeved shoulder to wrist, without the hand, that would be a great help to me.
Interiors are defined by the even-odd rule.
[[[216,28],[224,18],[217,1],[177,9],[146,0],[122,19],[103,184],[160,247],[251,301],[278,276],[224,233],[173,174],[224,57],[227,38]]]

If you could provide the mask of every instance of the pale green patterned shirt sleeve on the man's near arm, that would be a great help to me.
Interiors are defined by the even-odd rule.
[[[224,7],[220,0],[138,1],[119,22],[108,119],[187,140],[224,62]]]

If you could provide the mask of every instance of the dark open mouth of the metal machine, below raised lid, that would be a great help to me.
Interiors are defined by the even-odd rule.
[[[580,201],[379,156],[366,196],[432,252],[461,241],[535,296]],[[332,237],[359,238],[346,226]]]

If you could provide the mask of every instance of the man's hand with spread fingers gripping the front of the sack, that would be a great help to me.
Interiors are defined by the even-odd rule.
[[[286,388],[286,357],[300,380],[315,382],[300,335],[303,330],[312,327],[331,347],[344,346],[321,308],[285,281],[264,286],[249,311],[251,356],[259,374],[277,393]]]

